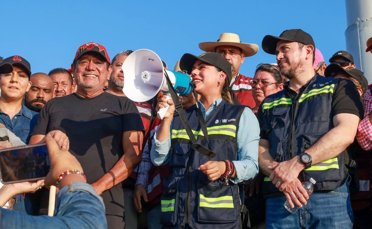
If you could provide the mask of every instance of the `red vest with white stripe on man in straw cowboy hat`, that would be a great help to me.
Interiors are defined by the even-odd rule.
[[[253,80],[253,78],[239,74],[234,84],[231,85],[231,90],[238,97],[240,104],[253,108],[256,106],[256,102],[252,96],[252,86],[249,83],[250,80]]]

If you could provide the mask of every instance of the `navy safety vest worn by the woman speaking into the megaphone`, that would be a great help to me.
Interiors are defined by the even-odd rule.
[[[244,106],[222,100],[205,120],[209,145],[216,157],[207,158],[191,149],[191,141],[179,117],[171,130],[169,177],[164,178],[161,196],[161,220],[164,228],[215,229],[216,224],[227,228],[241,228],[238,185],[218,179],[208,180],[200,165],[207,161],[236,160],[237,127]],[[197,141],[208,148],[198,122],[195,107],[185,110]]]

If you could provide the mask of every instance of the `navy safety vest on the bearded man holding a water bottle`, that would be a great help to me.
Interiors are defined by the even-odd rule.
[[[296,101],[286,90],[265,98],[261,105],[264,117],[261,130],[269,136],[269,151],[275,161],[288,161],[305,152],[333,128],[331,105],[339,81],[317,74]],[[298,178],[303,182],[311,177],[317,181],[314,190],[333,190],[343,185],[348,174],[342,153],[313,164]],[[264,179],[263,193],[266,197],[282,195],[268,177]]]

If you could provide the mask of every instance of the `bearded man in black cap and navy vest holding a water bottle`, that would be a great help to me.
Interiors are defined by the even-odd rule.
[[[315,43],[301,29],[267,35],[285,89],[267,96],[257,113],[259,166],[264,174],[267,228],[352,228],[349,177],[342,152],[354,141],[363,106],[352,81],[314,74]],[[314,193],[302,182],[313,178]],[[285,201],[300,209],[289,213]],[[293,201],[293,202],[292,202]]]

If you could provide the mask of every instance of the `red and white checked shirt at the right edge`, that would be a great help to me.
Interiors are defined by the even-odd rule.
[[[372,124],[369,122],[369,113],[372,111],[371,90],[367,90],[363,97],[364,119],[358,125],[356,140],[364,150],[372,149]]]

